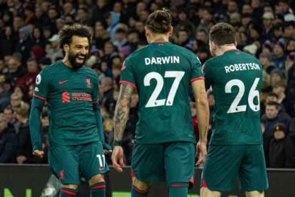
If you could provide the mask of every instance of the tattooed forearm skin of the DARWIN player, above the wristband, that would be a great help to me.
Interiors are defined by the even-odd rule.
[[[123,133],[128,120],[130,100],[133,91],[133,86],[126,83],[121,84],[119,98],[116,104],[114,116],[114,139],[117,141],[121,141],[123,137]]]

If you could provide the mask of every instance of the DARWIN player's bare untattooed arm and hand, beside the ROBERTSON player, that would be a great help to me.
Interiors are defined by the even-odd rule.
[[[197,165],[199,165],[205,162],[207,156],[207,129],[209,124],[209,105],[204,80],[195,80],[192,82],[191,85],[196,100],[197,118],[200,135],[200,140],[197,144],[196,157],[199,157],[200,152],[202,153],[201,160],[197,162]]]

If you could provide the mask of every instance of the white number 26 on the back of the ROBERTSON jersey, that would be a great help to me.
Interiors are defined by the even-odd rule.
[[[259,103],[259,91],[256,90],[256,87],[258,85],[259,78],[255,78],[255,81],[249,91],[248,95],[248,104],[250,109],[253,111],[259,111],[260,110],[260,103]],[[227,113],[236,113],[236,112],[243,112],[246,111],[247,105],[239,105],[239,101],[242,99],[244,92],[245,92],[245,85],[244,83],[239,79],[232,79],[225,85],[225,93],[232,93],[232,87],[237,86],[238,87],[238,93],[236,95],[236,98],[232,102],[229,110]],[[258,104],[254,104],[254,98],[257,97]]]

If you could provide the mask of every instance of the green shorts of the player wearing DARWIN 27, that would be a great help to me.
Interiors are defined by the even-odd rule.
[[[196,147],[192,142],[134,144],[132,174],[140,181],[193,183]]]

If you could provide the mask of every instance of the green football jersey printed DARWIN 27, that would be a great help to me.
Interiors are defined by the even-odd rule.
[[[189,86],[198,79],[204,75],[197,56],[170,42],[152,42],[126,58],[120,83],[138,90],[136,142],[196,142]]]

